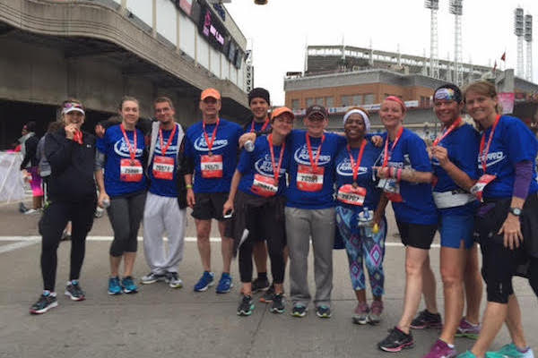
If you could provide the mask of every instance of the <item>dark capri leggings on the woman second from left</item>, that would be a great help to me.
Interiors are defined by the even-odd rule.
[[[125,252],[136,252],[138,244],[136,238],[143,217],[145,198],[145,192],[138,192],[110,199],[107,212],[114,230],[110,256],[119,257]]]

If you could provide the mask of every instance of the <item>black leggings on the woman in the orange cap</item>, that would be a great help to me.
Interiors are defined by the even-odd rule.
[[[249,232],[251,228],[261,227],[267,242],[267,251],[271,259],[271,275],[273,283],[284,282],[285,263],[283,250],[286,245],[286,230],[284,215],[276,215],[272,205],[265,204],[261,207],[250,207],[246,210],[246,224]],[[241,282],[252,281],[252,248],[257,237],[249,234],[247,240],[239,246],[239,274]]]

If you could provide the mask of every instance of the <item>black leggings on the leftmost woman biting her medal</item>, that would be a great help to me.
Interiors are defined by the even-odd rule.
[[[71,268],[69,279],[78,279],[86,251],[86,235],[93,225],[95,200],[77,203],[53,201],[39,220],[41,240],[41,275],[43,288],[54,291],[56,286],[57,248],[68,221],[71,229]]]

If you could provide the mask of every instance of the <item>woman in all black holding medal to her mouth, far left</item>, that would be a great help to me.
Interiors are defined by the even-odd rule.
[[[82,301],[85,294],[79,284],[84,260],[86,235],[93,224],[96,192],[93,180],[95,137],[82,132],[84,107],[76,99],[62,104],[62,126],[50,132],[45,140],[45,156],[50,164],[48,194],[50,204],[39,221],[41,241],[41,274],[43,294],[30,308],[30,313],[45,313],[57,306],[56,251],[68,221],[73,223],[71,239],[71,268],[65,295]]]

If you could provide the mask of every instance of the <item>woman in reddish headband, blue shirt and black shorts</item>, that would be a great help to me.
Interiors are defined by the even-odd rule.
[[[379,205],[392,201],[396,225],[405,245],[404,312],[397,326],[377,344],[386,352],[411,348],[412,318],[421,303],[424,271],[431,273],[430,245],[437,230],[437,208],[431,195],[431,163],[426,144],[403,125],[404,102],[397,97],[385,98],[379,116],[386,128],[383,154],[378,163],[379,187],[384,191]]]

